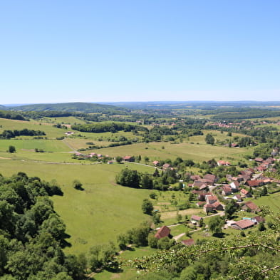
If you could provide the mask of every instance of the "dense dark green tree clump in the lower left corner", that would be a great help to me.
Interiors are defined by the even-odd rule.
[[[63,253],[66,225],[49,195],[62,195],[55,182],[0,176],[0,279],[83,279],[85,259]]]

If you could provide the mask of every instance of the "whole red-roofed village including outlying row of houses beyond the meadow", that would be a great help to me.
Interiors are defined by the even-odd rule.
[[[232,144],[234,147],[234,144]],[[207,224],[204,223],[204,220],[209,217],[219,216],[224,217],[223,229],[238,229],[244,231],[245,229],[250,229],[256,227],[258,224],[264,224],[266,222],[265,218],[261,215],[261,209],[253,202],[257,198],[257,195],[267,195],[267,186],[273,184],[275,191],[279,191],[279,180],[274,177],[266,176],[265,174],[273,174],[276,172],[275,162],[278,161],[274,156],[278,155],[279,151],[277,149],[272,150],[271,157],[266,159],[256,157],[251,160],[254,163],[254,167],[247,167],[239,171],[237,176],[232,174],[226,175],[226,181],[220,182],[220,178],[212,175],[205,174],[195,175],[187,174],[188,180],[180,180],[185,186],[185,189],[189,189],[192,192],[192,195],[197,202],[195,203],[198,209],[202,209],[204,217],[201,217],[197,214],[192,214],[190,219],[185,222],[187,227],[190,227],[190,233],[196,232],[197,230],[209,231],[207,229]],[[107,162],[108,164],[113,164],[115,162],[135,162],[139,159],[135,159],[135,156],[124,155],[119,157],[110,157],[109,155],[101,155],[95,152],[91,152],[88,155],[84,155],[80,152],[76,152],[76,157],[83,159],[93,158],[97,161]],[[175,167],[172,167],[170,163],[164,163],[159,160],[154,160],[152,162],[145,162],[145,165],[152,165],[162,172],[176,171]],[[218,160],[217,166],[230,167],[231,162],[226,160]],[[170,186],[168,190],[173,190],[173,187]],[[245,213],[250,213],[249,217],[242,217],[241,219],[229,219],[227,214],[227,204],[229,201],[234,201],[234,207],[236,211],[241,211]],[[246,216],[246,215],[245,215]],[[157,227],[155,233],[156,239],[168,238],[175,239],[177,242],[181,242],[186,246],[195,244],[195,240],[183,239],[185,233],[177,234],[177,236],[172,236],[171,229],[176,224],[172,225],[163,225],[162,227]]]

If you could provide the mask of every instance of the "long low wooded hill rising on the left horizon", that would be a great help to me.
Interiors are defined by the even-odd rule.
[[[95,104],[95,103],[56,103],[56,104],[32,104],[9,107],[10,110],[17,111],[65,111],[81,113],[113,113],[123,114],[128,111],[125,108],[118,108],[113,105]]]

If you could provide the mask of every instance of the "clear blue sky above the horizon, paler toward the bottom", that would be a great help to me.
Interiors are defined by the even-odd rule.
[[[0,104],[280,100],[279,0],[0,1]]]

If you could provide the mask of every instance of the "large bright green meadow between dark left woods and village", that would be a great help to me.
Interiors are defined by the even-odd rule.
[[[128,164],[130,165],[130,164]],[[26,172],[43,180],[56,179],[64,192],[52,197],[56,212],[67,225],[72,247],[67,252],[87,252],[94,244],[115,242],[116,236],[126,232],[149,217],[142,214],[142,200],[150,190],[136,190],[115,184],[115,175],[124,165],[51,165],[0,159],[4,176]],[[151,172],[151,167],[133,165],[134,169]],[[73,180],[83,183],[84,191],[72,187]]]

